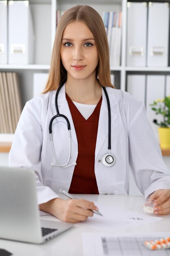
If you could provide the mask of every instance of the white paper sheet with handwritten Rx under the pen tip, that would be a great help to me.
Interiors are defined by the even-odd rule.
[[[97,203],[97,207],[103,216],[94,213],[92,218],[88,218],[85,222],[81,222],[81,225],[86,225],[95,229],[115,231],[116,229],[127,229],[162,220],[162,218],[149,216],[146,213],[142,214],[134,211],[127,211],[100,203]]]

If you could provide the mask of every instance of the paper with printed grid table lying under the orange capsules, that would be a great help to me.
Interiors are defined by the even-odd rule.
[[[144,241],[164,238],[170,234],[157,233],[141,236],[83,233],[84,256],[170,256],[170,249],[151,251]]]

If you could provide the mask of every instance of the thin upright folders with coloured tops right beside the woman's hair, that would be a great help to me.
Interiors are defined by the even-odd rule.
[[[121,58],[121,15],[122,12],[103,12],[102,19],[108,37],[110,66],[119,66]]]

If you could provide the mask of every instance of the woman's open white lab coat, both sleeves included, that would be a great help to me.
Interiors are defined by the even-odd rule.
[[[122,90],[106,89],[111,108],[111,153],[115,155],[116,163],[106,167],[101,161],[102,156],[108,152],[108,108],[102,90],[95,149],[95,176],[99,193],[127,195],[129,164],[135,182],[145,197],[157,189],[170,189],[170,171],[163,162],[144,104]],[[49,122],[56,115],[55,92],[41,94],[26,103],[9,153],[10,166],[24,166],[35,171],[38,204],[57,198],[60,188],[68,191],[75,167],[51,166],[55,158],[49,136]],[[58,95],[58,107],[60,114],[66,115],[71,124],[70,162],[76,162],[77,137],[65,96],[65,85]],[[62,118],[53,121],[53,142],[58,161],[65,164],[69,139],[66,122]]]

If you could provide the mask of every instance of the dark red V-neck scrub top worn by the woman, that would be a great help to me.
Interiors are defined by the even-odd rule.
[[[102,97],[86,120],[66,94],[78,142],[78,156],[69,193],[99,194],[95,177],[95,147]]]

